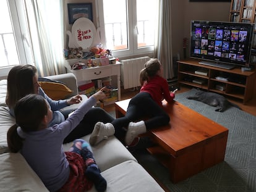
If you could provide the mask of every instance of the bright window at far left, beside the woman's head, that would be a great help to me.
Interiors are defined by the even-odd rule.
[[[0,77],[14,65],[32,64],[23,1],[0,1]]]

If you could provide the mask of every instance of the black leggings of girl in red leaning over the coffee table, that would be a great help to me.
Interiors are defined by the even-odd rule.
[[[169,115],[160,107],[150,96],[149,93],[140,92],[130,99],[129,106],[124,117],[113,120],[112,124],[116,130],[117,138],[122,138],[125,135],[123,128],[127,128],[129,122],[137,120],[145,120],[146,128],[157,128],[169,123]]]

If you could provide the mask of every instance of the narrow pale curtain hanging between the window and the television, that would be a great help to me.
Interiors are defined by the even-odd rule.
[[[158,23],[158,38],[154,57],[161,61],[164,67],[164,78],[174,77],[173,53],[171,40],[171,1],[160,0],[160,12]]]

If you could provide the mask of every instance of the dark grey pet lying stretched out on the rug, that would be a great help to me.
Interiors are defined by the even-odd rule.
[[[215,111],[218,111],[218,112],[223,112],[226,109],[228,109],[228,107],[230,106],[240,109],[239,106],[237,106],[236,104],[233,104],[232,102],[229,102],[228,99],[224,98],[224,96],[217,93],[198,90],[194,96],[188,96],[187,99],[193,99],[195,101],[204,102],[209,106],[217,107]]]

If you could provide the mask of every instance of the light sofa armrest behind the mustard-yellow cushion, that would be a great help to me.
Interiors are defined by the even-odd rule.
[[[74,91],[72,95],[78,94],[78,89],[77,89],[77,78],[73,73],[64,73],[60,75],[51,75],[45,78],[49,78],[50,80],[54,81],[60,81],[64,83],[70,90]]]

